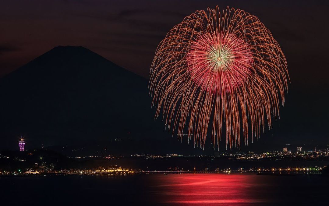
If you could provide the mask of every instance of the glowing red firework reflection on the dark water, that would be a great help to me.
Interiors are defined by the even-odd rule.
[[[157,176],[154,195],[174,205],[266,204],[255,174],[169,174]],[[264,191],[263,191],[264,192]]]

